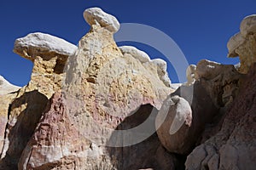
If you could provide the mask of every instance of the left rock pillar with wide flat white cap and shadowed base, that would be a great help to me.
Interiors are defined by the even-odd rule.
[[[32,60],[34,65],[28,85],[1,99],[5,128],[4,134],[0,134],[3,139],[2,169],[17,168],[21,152],[31,138],[48,99],[61,89],[64,66],[74,49],[75,46],[60,38],[41,33],[29,34],[15,42],[15,53]]]

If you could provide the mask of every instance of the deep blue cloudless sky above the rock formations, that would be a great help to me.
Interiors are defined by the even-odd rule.
[[[228,59],[226,44],[239,31],[241,20],[256,14],[255,0],[24,0],[0,2],[0,75],[16,85],[25,85],[31,75],[32,62],[12,52],[15,39],[41,31],[77,44],[89,30],[83,12],[100,7],[120,23],[153,26],[177,42],[190,64],[211,59],[236,64]],[[154,49],[138,45],[152,58],[162,57]],[[177,77],[172,70],[172,82]]]

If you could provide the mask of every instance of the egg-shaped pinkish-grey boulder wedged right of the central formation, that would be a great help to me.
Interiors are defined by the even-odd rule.
[[[170,152],[182,153],[186,133],[192,122],[189,102],[177,95],[165,100],[156,118],[156,127],[161,144]]]

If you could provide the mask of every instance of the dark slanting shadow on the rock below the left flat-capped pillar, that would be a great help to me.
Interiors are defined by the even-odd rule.
[[[21,153],[31,139],[47,103],[47,97],[34,90],[26,92],[9,105],[9,120],[10,116],[18,116],[13,127],[9,124],[6,127],[9,133],[6,133],[5,139],[9,139],[9,148],[0,161],[0,169],[18,169]]]

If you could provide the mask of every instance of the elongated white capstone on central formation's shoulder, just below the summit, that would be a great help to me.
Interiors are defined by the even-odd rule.
[[[146,63],[150,60],[148,54],[142,50],[139,50],[138,48],[132,46],[121,46],[119,49],[121,50],[122,54],[131,54],[132,57],[138,59],[141,61],[141,63]]]

